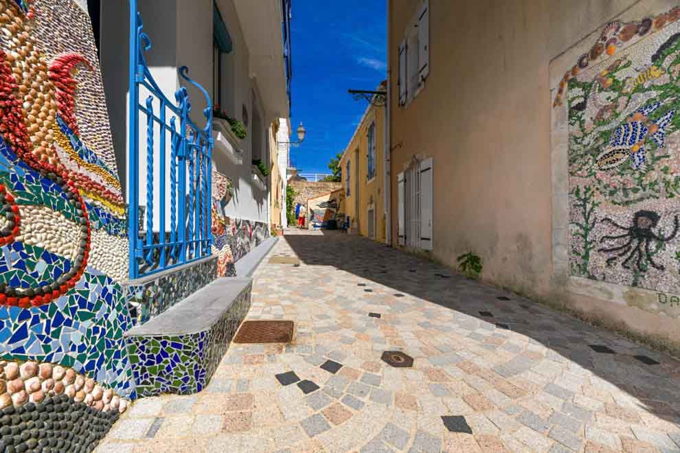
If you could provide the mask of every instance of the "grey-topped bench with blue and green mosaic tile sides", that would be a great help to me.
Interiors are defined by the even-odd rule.
[[[248,313],[252,280],[222,277],[124,334],[138,397],[201,391]]]

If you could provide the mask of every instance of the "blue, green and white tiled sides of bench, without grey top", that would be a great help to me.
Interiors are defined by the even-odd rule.
[[[209,330],[177,336],[128,337],[130,361],[141,397],[196,393],[207,386],[250,308],[251,286]]]

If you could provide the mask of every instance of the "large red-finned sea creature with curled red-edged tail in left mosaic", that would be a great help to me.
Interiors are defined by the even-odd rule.
[[[0,305],[20,307],[49,303],[76,286],[89,258],[93,209],[124,212],[115,174],[78,139],[73,75],[78,67],[92,67],[78,54],[48,62],[31,33],[33,14],[25,1],[0,0],[0,165],[5,172],[0,245],[8,246],[5,254],[16,256],[12,263],[20,263],[19,270],[30,276],[20,279],[14,272],[0,282]],[[63,220],[68,240],[60,242],[70,244],[58,249],[52,244],[49,250],[47,241],[39,242],[54,231],[32,230],[27,219],[21,222],[36,211]],[[37,248],[30,242],[35,237]],[[63,263],[52,275],[27,269],[26,263],[56,259]]]

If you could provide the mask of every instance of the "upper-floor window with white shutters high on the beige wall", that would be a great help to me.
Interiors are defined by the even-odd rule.
[[[425,84],[429,74],[429,0],[422,0],[398,49],[399,105],[405,106]]]

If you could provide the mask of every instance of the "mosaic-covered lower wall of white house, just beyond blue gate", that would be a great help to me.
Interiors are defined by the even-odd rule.
[[[267,223],[232,219],[225,216],[231,200],[231,182],[227,176],[212,173],[212,253],[217,255],[218,277],[236,276],[234,264],[269,237]]]

